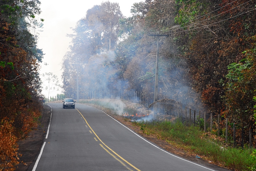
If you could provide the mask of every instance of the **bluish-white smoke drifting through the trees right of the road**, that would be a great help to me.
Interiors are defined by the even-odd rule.
[[[118,114],[125,112],[125,105],[121,100],[109,99],[129,100],[147,108],[154,102],[156,37],[141,35],[145,27],[143,23],[137,23],[131,36],[126,34],[125,39],[118,40],[122,14],[118,10],[113,13],[115,18],[112,20],[115,19],[116,24],[112,26],[108,21],[114,15],[109,7],[119,9],[118,4],[109,2],[94,6],[77,23],[75,34],[70,36],[73,39],[71,51],[63,62],[64,92],[76,98],[78,82],[79,99],[105,99],[100,105]],[[186,106],[203,111],[199,94],[188,84],[186,62],[178,57],[173,40],[170,36],[159,41],[158,113],[177,115],[173,112],[177,105],[170,105],[172,109],[168,109],[162,99],[174,100],[184,110]],[[145,119],[151,120],[150,116]]]

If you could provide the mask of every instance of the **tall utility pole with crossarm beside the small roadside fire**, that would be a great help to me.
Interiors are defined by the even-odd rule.
[[[154,102],[158,100],[158,59],[159,59],[159,36],[169,36],[169,34],[149,34],[149,36],[157,36],[156,43],[156,77],[155,77],[155,94]],[[154,105],[154,118],[157,116],[157,103]]]

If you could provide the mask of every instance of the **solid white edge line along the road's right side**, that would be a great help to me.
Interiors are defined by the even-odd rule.
[[[81,104],[81,105],[84,105],[84,104]],[[88,105],[84,105],[84,106],[88,106]],[[92,107],[92,106],[90,106],[90,107]],[[94,108],[94,107],[92,107],[92,108]],[[95,108],[95,109],[97,109],[97,108]],[[100,109],[98,109],[98,110],[100,110]],[[104,112],[104,111],[102,111],[102,110],[100,110],[100,111],[103,112],[103,113],[105,113],[106,115],[108,115],[106,112]],[[207,167],[201,166],[201,165],[199,165],[199,164],[196,164],[196,163],[194,163],[194,162],[192,162],[192,161],[189,161],[189,160],[186,160],[186,159],[182,159],[182,158],[180,158],[180,157],[178,157],[178,156],[176,156],[176,155],[173,155],[172,153],[170,153],[170,152],[168,152],[168,151],[165,151],[165,150],[163,150],[163,149],[157,147],[156,145],[150,143],[150,142],[149,142],[147,139],[145,139],[144,137],[142,137],[142,136],[140,136],[139,134],[133,132],[130,128],[126,127],[124,124],[122,124],[122,123],[120,123],[119,121],[117,121],[117,120],[116,120],[115,118],[113,118],[112,116],[110,116],[110,115],[108,115],[108,116],[111,117],[112,119],[114,119],[116,122],[118,122],[118,123],[121,124],[122,126],[124,126],[125,128],[127,128],[128,130],[130,130],[132,133],[134,133],[135,135],[137,135],[137,136],[140,137],[141,139],[143,139],[144,141],[146,141],[147,143],[149,143],[149,144],[153,145],[154,147],[158,148],[159,150],[162,150],[163,152],[166,152],[167,154],[170,154],[170,155],[172,155],[173,157],[176,157],[176,158],[178,158],[178,159],[187,161],[187,162],[189,162],[189,163],[192,163],[192,164],[194,164],[194,165],[197,165],[197,166],[206,168],[206,169],[208,169],[208,170],[212,170],[212,169],[210,169],[210,168],[207,168]],[[212,171],[215,171],[215,170],[212,170]]]

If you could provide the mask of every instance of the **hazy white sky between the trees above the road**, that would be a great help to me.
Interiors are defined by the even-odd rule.
[[[117,2],[124,16],[129,17],[133,3],[138,3],[143,0],[109,0],[110,2]],[[72,0],[72,1],[52,1],[41,0],[41,10],[39,18],[44,19],[43,32],[40,32],[38,39],[38,48],[43,49],[44,59],[40,70],[41,75],[45,72],[52,72],[57,75],[60,83],[61,80],[61,63],[63,56],[68,51],[70,38],[67,34],[72,33],[70,27],[75,27],[76,22],[83,18],[86,11],[94,5],[100,5],[102,0]],[[46,84],[44,77],[41,76],[42,81]],[[45,96],[48,92],[43,89]],[[50,93],[50,96],[55,96],[61,91]]]

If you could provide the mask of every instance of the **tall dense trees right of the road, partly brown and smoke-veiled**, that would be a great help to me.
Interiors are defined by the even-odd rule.
[[[245,128],[248,142],[248,129],[255,129],[254,0],[135,3],[131,17],[119,15],[119,23],[108,26],[116,29],[114,35],[118,37],[113,39],[117,40],[114,43],[112,38],[111,43],[106,41],[109,37],[104,28],[105,16],[99,15],[106,11],[105,4],[111,3],[88,10],[74,28],[72,45],[63,62],[65,92],[76,97],[78,72],[80,95],[106,89],[153,95],[159,39],[159,99],[174,99],[213,115],[221,114],[229,123],[235,122],[238,129]],[[116,8],[119,9],[118,4]],[[108,11],[108,15],[116,14],[115,10]]]

